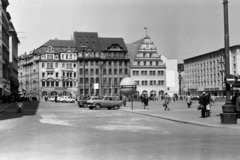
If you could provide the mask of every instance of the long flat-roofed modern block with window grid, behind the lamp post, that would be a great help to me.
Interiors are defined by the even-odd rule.
[[[224,95],[225,49],[195,56],[184,60],[185,87],[192,95],[211,92]],[[240,75],[240,45],[229,47],[230,74]]]

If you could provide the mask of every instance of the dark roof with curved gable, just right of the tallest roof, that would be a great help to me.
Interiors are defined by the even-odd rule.
[[[127,47],[123,38],[99,38],[101,50],[104,51],[113,44],[119,45],[124,51],[127,51]]]

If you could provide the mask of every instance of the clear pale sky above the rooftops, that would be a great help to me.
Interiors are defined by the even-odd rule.
[[[9,0],[19,55],[73,32],[132,43],[148,36],[157,52],[184,59],[224,48],[223,0]],[[240,44],[240,1],[229,0],[230,46]]]

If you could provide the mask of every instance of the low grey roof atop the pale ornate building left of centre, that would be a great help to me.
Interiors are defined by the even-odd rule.
[[[50,39],[46,43],[44,43],[41,47],[75,47],[75,43],[73,40],[59,40],[59,39]],[[40,47],[39,47],[40,48]]]

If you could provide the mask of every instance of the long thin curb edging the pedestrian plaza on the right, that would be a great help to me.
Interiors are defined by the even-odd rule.
[[[169,121],[174,121],[174,122],[181,122],[181,123],[185,123],[185,124],[192,124],[192,125],[204,126],[204,127],[212,127],[212,128],[232,128],[232,127],[227,127],[227,126],[210,125],[210,124],[207,124],[207,123],[201,123],[201,122],[196,122],[196,121],[187,121],[187,120],[182,120],[182,119],[178,119],[178,118],[170,118],[170,117],[165,117],[165,116],[160,116],[160,115],[152,115],[152,114],[146,114],[146,113],[139,113],[139,112],[130,111],[130,110],[121,110],[121,111],[131,112],[131,113],[134,113],[134,114],[140,114],[140,115],[144,115],[144,116],[150,116],[150,117],[154,117],[154,118],[161,118],[161,119],[165,119],[165,120],[169,120]]]

